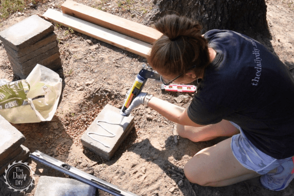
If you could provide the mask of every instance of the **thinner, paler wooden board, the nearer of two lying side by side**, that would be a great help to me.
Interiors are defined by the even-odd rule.
[[[113,46],[125,49],[143,57],[147,57],[151,49],[151,45],[134,38],[122,35],[98,25],[74,18],[62,12],[48,9],[44,14],[49,20],[60,25],[70,27],[73,30],[96,38]]]

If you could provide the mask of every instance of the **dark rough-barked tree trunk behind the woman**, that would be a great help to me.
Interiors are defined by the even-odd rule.
[[[269,35],[265,0],[153,0],[146,25],[166,14],[187,16],[199,22],[203,33],[229,29],[247,35]]]

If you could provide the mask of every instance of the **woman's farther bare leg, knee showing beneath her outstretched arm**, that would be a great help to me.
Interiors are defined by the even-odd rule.
[[[179,136],[188,138],[193,142],[208,141],[223,136],[231,137],[240,133],[239,129],[226,120],[202,127],[177,124],[177,132]]]

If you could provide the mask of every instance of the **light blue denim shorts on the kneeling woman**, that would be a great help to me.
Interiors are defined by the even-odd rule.
[[[240,130],[240,133],[232,137],[231,149],[235,158],[248,170],[253,170],[263,175],[274,170],[283,162],[292,159],[292,157],[275,159],[265,154],[246,138],[240,126],[235,123],[232,124]]]

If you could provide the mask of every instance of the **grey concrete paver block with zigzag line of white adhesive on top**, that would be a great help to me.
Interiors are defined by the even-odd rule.
[[[120,114],[120,109],[107,104],[99,115],[96,117],[94,122],[88,127],[85,133],[81,136],[81,143],[84,147],[87,147],[91,151],[95,152],[99,156],[110,160],[118,147],[122,144],[123,140],[127,137],[130,133],[132,128],[134,127],[134,117],[128,116],[123,117]],[[98,136],[95,134],[90,134],[91,137],[94,139],[102,142],[103,144],[109,146],[105,147],[100,142],[97,142],[90,138],[87,134],[88,133],[97,133],[102,135],[112,136],[109,132],[103,129],[101,126],[97,124],[97,121],[105,121],[108,123],[99,122],[106,130],[115,134],[115,137],[105,137],[105,136]],[[122,121],[122,122],[121,122]],[[113,123],[113,124],[111,124]]]

